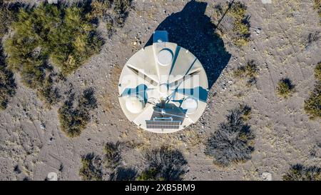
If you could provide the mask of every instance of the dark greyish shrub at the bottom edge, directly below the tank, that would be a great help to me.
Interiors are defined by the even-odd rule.
[[[146,153],[148,167],[138,176],[137,180],[177,181],[185,174],[185,160],[177,149],[161,146]]]

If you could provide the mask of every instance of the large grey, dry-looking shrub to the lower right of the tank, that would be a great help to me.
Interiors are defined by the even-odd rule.
[[[228,166],[233,162],[251,159],[255,136],[244,122],[249,114],[249,106],[229,111],[227,121],[221,123],[210,136],[205,145],[205,154],[214,157],[215,164]]]

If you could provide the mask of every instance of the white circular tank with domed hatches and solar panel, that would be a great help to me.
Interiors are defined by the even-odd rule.
[[[134,54],[118,83],[126,117],[156,133],[170,133],[195,123],[206,107],[208,79],[200,61],[188,50],[168,42],[166,31]]]

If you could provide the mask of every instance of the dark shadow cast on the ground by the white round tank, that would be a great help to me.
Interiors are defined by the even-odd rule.
[[[156,28],[168,31],[170,42],[191,51],[203,64],[208,76],[209,89],[230,61],[223,40],[215,34],[215,25],[205,15],[207,3],[190,1],[182,11],[171,14]],[[153,44],[153,36],[146,46]]]

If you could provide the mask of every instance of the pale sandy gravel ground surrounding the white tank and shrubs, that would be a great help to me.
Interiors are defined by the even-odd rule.
[[[307,45],[309,34],[321,31],[312,1],[243,0],[251,27],[250,41],[241,47],[224,37],[206,38],[213,31],[208,23],[220,2],[225,1],[135,0],[124,26],[112,36],[98,26],[106,37],[99,54],[57,84],[63,99],[68,91],[77,96],[88,88],[96,96],[97,107],[78,137],[68,138],[61,132],[57,111],[63,101],[46,108],[36,91],[14,74],[16,94],[0,111],[0,180],[45,180],[49,172],[56,172],[59,180],[81,180],[81,156],[91,152],[103,156],[109,141],[123,143],[121,164],[138,171],[146,164],[144,151],[163,145],[178,149],[188,162],[184,180],[263,180],[267,173],[272,180],[281,180],[292,164],[320,166],[320,119],[309,119],[303,109],[315,84],[315,65],[321,61],[321,39]],[[203,116],[173,134],[139,129],[126,119],[117,98],[122,67],[148,44],[156,29],[167,30],[170,41],[192,51],[205,66],[210,83]],[[222,44],[223,53],[211,51]],[[259,71],[256,83],[248,86],[246,79],[233,76],[233,70],[250,60]],[[288,99],[275,91],[283,77],[295,84]],[[225,121],[228,110],[239,104],[252,109],[247,123],[255,135],[255,150],[248,161],[218,166],[204,154],[205,142]],[[110,173],[103,174],[108,178]]]

